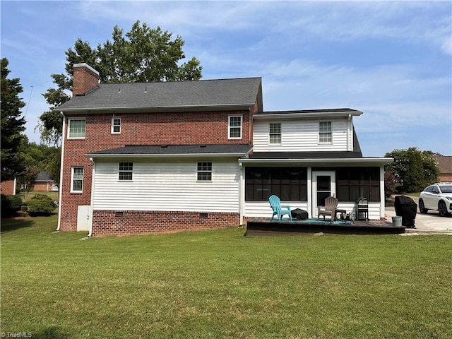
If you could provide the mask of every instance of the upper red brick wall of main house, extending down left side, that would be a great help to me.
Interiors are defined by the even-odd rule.
[[[251,111],[252,112],[252,111]],[[227,139],[230,114],[243,114],[242,139]],[[115,114],[121,117],[121,133],[112,134],[112,114],[78,115],[86,117],[85,139],[64,140],[63,176],[61,177],[61,230],[75,231],[77,208],[90,205],[93,166],[84,155],[124,145],[196,145],[251,143],[251,117],[239,112],[175,112]],[[66,119],[66,131],[68,119]],[[83,166],[83,193],[71,191],[71,167]]]

